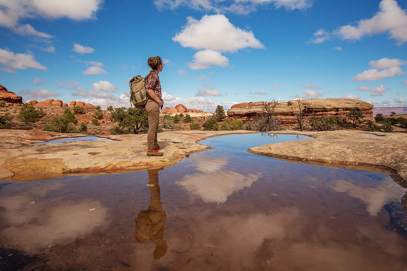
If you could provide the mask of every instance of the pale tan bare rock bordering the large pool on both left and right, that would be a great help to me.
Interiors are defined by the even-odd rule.
[[[33,145],[59,138],[78,137],[44,131],[0,130],[0,181],[37,180],[66,175],[110,174],[174,165],[192,153],[210,149],[199,140],[251,131],[171,131],[159,133],[162,157],[147,157],[147,135],[108,135],[114,141],[75,141]],[[295,162],[318,163],[337,167],[371,167],[394,170],[398,183],[407,187],[407,134],[363,133],[340,130],[299,132],[281,130],[270,134],[310,136],[296,140],[255,146],[248,151],[257,155]]]

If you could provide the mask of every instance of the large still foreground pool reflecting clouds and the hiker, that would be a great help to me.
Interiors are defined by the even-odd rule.
[[[2,182],[0,270],[406,270],[388,175],[246,152],[301,139],[215,137],[163,170]]]

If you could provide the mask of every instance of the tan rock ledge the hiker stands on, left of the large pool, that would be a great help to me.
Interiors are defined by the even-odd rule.
[[[236,131],[234,134],[251,133]],[[198,140],[230,131],[175,131],[158,136],[162,157],[148,157],[147,135],[109,135],[116,141],[75,141],[33,145],[84,136],[43,131],[0,130],[0,181],[37,180],[66,175],[109,174],[174,165],[210,147]]]

